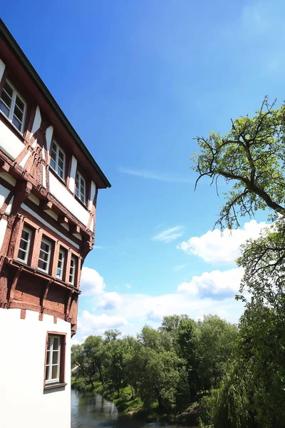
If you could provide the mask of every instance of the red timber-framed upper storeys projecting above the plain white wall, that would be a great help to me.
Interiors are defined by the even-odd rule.
[[[98,189],[110,183],[0,20],[0,98],[6,82],[21,94],[26,114],[20,132],[0,109],[0,130],[5,127],[22,147],[16,156],[9,155],[1,148],[0,132],[0,186],[6,195],[0,207],[0,221],[6,224],[0,243],[0,307],[21,309],[23,320],[26,310],[38,312],[39,320],[53,315],[54,320],[71,322],[73,335],[81,268],[94,244]],[[51,167],[54,141],[66,156],[62,177]],[[84,173],[85,203],[75,194],[76,171]],[[74,198],[69,206],[83,215],[56,198],[50,179],[59,183],[66,198]],[[25,230],[28,250],[23,260],[19,250]],[[41,265],[44,248],[48,263]]]

